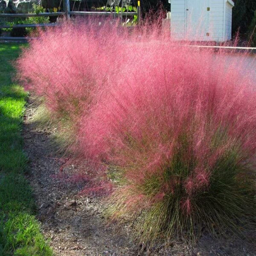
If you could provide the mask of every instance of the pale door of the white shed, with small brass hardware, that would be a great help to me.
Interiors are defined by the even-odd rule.
[[[210,0],[187,0],[186,39],[207,41],[210,39]],[[207,9],[208,8],[208,9]]]

